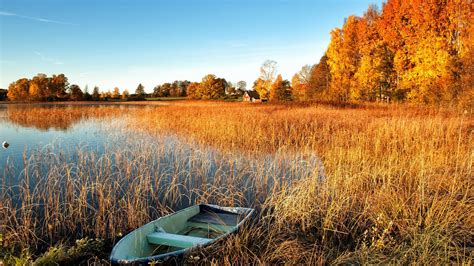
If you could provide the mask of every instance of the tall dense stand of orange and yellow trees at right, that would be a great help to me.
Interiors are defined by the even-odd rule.
[[[470,0],[371,5],[331,32],[319,64],[292,85],[303,98],[472,105],[473,10]]]

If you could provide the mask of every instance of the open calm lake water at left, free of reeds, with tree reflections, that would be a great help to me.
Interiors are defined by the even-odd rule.
[[[0,147],[0,176],[8,175],[13,178],[18,176],[25,158],[30,158],[33,152],[44,153],[54,150],[72,154],[80,149],[101,153],[110,137],[110,132],[106,132],[105,128],[110,128],[114,124],[116,126],[120,119],[71,116],[67,113],[71,108],[80,107],[0,104],[0,143],[6,141],[10,144],[7,149]],[[124,111],[131,107],[107,108],[119,108]],[[66,113],[61,119],[49,115],[57,113],[58,110]]]

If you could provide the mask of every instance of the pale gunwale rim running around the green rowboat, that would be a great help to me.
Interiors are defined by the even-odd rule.
[[[166,217],[169,217],[169,216],[172,216],[172,215],[176,215],[178,213],[181,213],[181,212],[184,212],[184,211],[187,211],[191,208],[195,208],[196,206],[198,206],[200,209],[201,209],[201,206],[207,206],[207,207],[211,207],[211,208],[215,208],[215,209],[219,209],[219,210],[222,210],[222,211],[227,211],[227,212],[232,212],[232,211],[229,211],[229,209],[233,209],[233,210],[237,210],[237,211],[243,211],[243,213],[246,213],[246,215],[244,216],[244,218],[242,218],[242,220],[240,220],[240,222],[238,224],[236,224],[235,226],[233,226],[233,229],[229,230],[228,232],[224,233],[224,234],[221,234],[220,236],[212,239],[211,241],[209,241],[208,243],[206,243],[205,245],[197,245],[197,246],[194,246],[194,247],[190,247],[190,248],[183,248],[183,249],[180,249],[180,250],[176,250],[176,251],[171,251],[171,252],[167,252],[167,253],[163,253],[163,254],[158,254],[158,255],[154,255],[154,256],[148,256],[148,257],[139,257],[139,258],[135,258],[135,259],[116,259],[114,258],[115,257],[115,252],[116,252],[116,248],[117,246],[119,246],[120,244],[123,244],[127,241],[128,237],[133,233],[135,232],[136,230],[139,230],[141,227],[144,227],[146,225],[149,225],[149,224],[152,224],[152,223],[155,223],[161,219],[164,219]],[[130,233],[128,233],[125,237],[123,237],[122,239],[119,240],[119,242],[117,242],[117,244],[114,245],[114,248],[112,249],[112,252],[110,253],[110,262],[112,264],[134,264],[134,263],[137,263],[137,264],[141,264],[141,263],[148,263],[150,261],[166,261],[167,259],[169,258],[172,258],[172,257],[178,257],[180,255],[183,255],[184,253],[186,252],[190,252],[190,251],[193,251],[193,250],[196,250],[196,249],[199,249],[199,248],[202,248],[204,246],[208,246],[208,245],[211,245],[219,240],[221,240],[222,238],[225,238],[227,237],[228,235],[232,234],[232,233],[235,233],[236,231],[239,230],[239,228],[242,226],[242,224],[244,224],[249,218],[250,216],[254,213],[255,209],[253,208],[245,208],[245,207],[222,207],[222,206],[218,206],[218,205],[214,205],[214,204],[197,204],[197,205],[193,205],[193,206],[190,206],[190,207],[187,207],[187,208],[184,208],[180,211],[177,211],[177,212],[173,212],[173,213],[170,213],[170,214],[167,214],[163,217],[160,217],[156,220],[153,220],[153,221],[150,221],[136,229],[134,229],[133,231],[131,231]],[[235,212],[234,212],[235,213]],[[237,214],[240,214],[240,213],[237,213]],[[123,241],[123,243],[122,243]]]

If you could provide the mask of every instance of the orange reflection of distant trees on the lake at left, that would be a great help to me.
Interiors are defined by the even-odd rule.
[[[118,115],[124,106],[74,106],[74,105],[9,105],[8,121],[40,130],[67,130],[83,119]]]

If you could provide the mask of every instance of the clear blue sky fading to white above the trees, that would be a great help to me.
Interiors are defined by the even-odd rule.
[[[324,54],[330,31],[381,0],[0,0],[0,88],[64,73],[89,91],[145,91],[214,74],[283,78]]]

